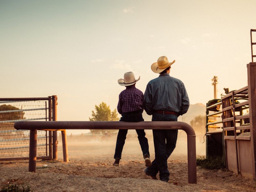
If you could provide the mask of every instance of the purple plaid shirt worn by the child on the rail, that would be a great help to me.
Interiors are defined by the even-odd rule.
[[[143,99],[144,95],[135,85],[128,86],[124,91],[119,94],[119,101],[117,105],[117,111],[122,113],[128,113],[132,111],[143,111]]]

